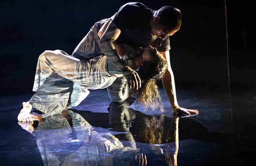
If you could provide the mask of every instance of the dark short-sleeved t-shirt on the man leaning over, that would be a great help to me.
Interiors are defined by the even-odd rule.
[[[163,40],[151,34],[150,19],[154,11],[142,3],[132,2],[121,6],[111,17],[121,34],[116,39],[118,44],[146,48],[157,47],[159,52],[170,50],[169,36]]]

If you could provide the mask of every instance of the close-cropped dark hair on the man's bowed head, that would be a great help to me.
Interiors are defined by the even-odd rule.
[[[180,23],[178,20],[182,20],[182,15],[179,9],[172,6],[164,6],[157,11],[159,16],[159,23],[166,28],[176,29],[179,28]]]

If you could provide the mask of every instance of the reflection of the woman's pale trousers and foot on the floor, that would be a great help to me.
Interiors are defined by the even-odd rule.
[[[30,130],[22,123],[33,122],[19,124],[36,137],[44,165],[146,165],[136,145],[124,146],[115,132],[91,126],[78,113],[64,110],[39,119],[39,126],[27,125]]]

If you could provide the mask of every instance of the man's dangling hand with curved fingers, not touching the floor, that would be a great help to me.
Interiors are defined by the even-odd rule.
[[[130,89],[138,90],[138,88],[141,87],[139,74],[132,70],[129,66],[126,66],[126,69],[123,70],[123,74]]]

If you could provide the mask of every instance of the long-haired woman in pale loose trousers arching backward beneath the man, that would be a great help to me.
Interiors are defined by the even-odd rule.
[[[126,49],[125,49],[126,48]],[[146,50],[141,52],[140,58],[129,59],[129,53],[131,49],[129,47],[118,47],[116,49],[120,53],[120,56],[127,61],[129,66],[139,66],[143,63],[138,73],[144,79],[144,87],[150,84],[150,79],[159,79],[165,72],[166,60],[163,56],[151,46],[148,46]],[[136,51],[133,51],[136,52]],[[136,52],[137,53],[137,52]],[[131,69],[128,67],[128,69]],[[56,81],[55,78],[49,77],[52,74],[57,73],[56,76],[64,77],[65,81]],[[45,51],[38,58],[37,70],[35,75],[35,82],[33,90],[36,91],[34,96],[27,103],[23,103],[23,109],[18,116],[19,121],[31,121],[29,112],[32,108],[45,113],[60,113],[63,109],[69,106],[78,105],[88,94],[87,89],[102,89],[106,88],[113,83],[117,77],[122,77],[123,74],[120,70],[114,67],[114,63],[109,60],[108,56],[97,56],[90,61],[79,60],[69,56],[64,51]],[[49,78],[49,79],[47,79]],[[67,88],[66,84],[73,84],[73,81],[84,89],[83,95],[69,96],[71,88]],[[51,88],[58,84],[63,89],[52,90]],[[154,82],[155,84],[155,82]],[[65,85],[65,86],[64,86]],[[151,85],[151,84],[150,84]],[[145,94],[147,88],[140,88],[138,93]],[[140,95],[141,101],[146,101],[145,98],[155,99],[156,93],[150,93],[149,95]],[[63,97],[64,96],[64,97]],[[82,97],[81,97],[82,96]],[[74,98],[78,98],[76,104],[74,104]],[[82,99],[81,99],[82,98]],[[61,101],[60,101],[61,100]],[[152,100],[153,101],[153,100]],[[148,104],[147,102],[144,102]],[[152,103],[153,104],[153,103]]]

